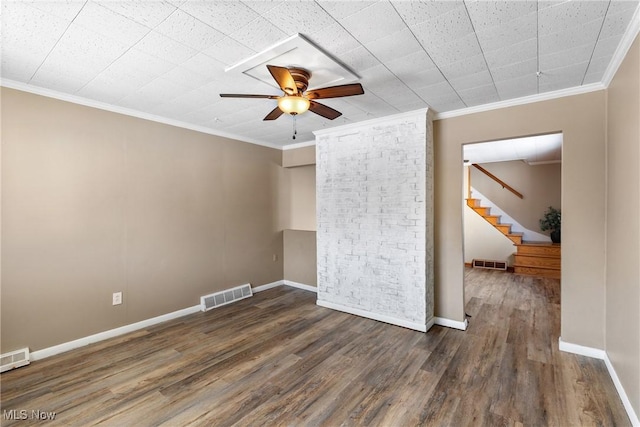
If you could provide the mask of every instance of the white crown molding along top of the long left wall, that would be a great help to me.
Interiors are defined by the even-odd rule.
[[[183,129],[189,129],[200,133],[206,133],[208,135],[220,136],[222,138],[235,139],[240,142],[246,142],[249,144],[260,145],[268,148],[275,148],[276,150],[282,150],[282,146],[271,144],[265,141],[257,139],[244,138],[239,135],[235,135],[227,132],[220,132],[215,129],[208,128],[206,126],[194,125],[192,123],[183,122],[180,120],[168,119],[166,117],[157,116],[155,114],[143,113],[142,111],[134,110],[131,108],[120,107],[117,105],[107,104],[106,102],[95,101],[93,99],[83,98],[76,95],[70,95],[67,93],[58,92],[52,89],[46,89],[40,86],[30,85],[23,82],[18,82],[10,79],[0,79],[0,86],[16,89],[23,92],[33,93],[35,95],[45,96],[47,98],[54,98],[60,101],[71,102],[73,104],[84,105],[86,107],[97,108],[99,110],[110,111],[112,113],[124,114],[126,116],[137,117],[139,119],[149,120],[152,122],[162,123],[169,126],[175,126]]]

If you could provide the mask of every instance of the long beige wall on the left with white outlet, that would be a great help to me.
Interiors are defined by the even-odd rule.
[[[1,93],[3,352],[283,278],[279,150]]]

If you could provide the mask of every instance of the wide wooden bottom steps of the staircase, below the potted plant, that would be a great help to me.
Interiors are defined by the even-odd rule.
[[[527,276],[560,279],[561,248],[559,243],[525,242],[516,245],[513,272]]]

